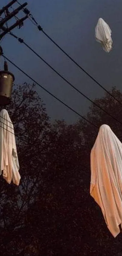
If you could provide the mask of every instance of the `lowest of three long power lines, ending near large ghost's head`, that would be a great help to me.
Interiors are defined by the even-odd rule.
[[[39,87],[41,87],[45,92],[47,92],[48,94],[50,94],[54,99],[58,100],[61,104],[63,104],[64,106],[66,106],[68,109],[70,109],[72,112],[74,112],[75,114],[77,114],[79,117],[83,118],[85,121],[87,121],[88,123],[92,124],[95,128],[98,129],[97,125],[92,123],[91,121],[87,120],[87,118],[85,118],[84,116],[82,116],[81,114],[79,114],[77,111],[75,111],[73,108],[71,108],[70,106],[68,106],[68,104],[64,103],[61,99],[59,99],[58,97],[56,97],[54,94],[52,94],[51,92],[49,92],[47,89],[45,89],[42,85],[40,85],[37,81],[35,81],[33,78],[31,78],[25,71],[23,71],[20,67],[18,67],[15,63],[13,63],[10,59],[8,59],[4,54],[2,54],[2,56],[7,59],[13,66],[15,66],[18,70],[20,70],[23,74],[25,74],[28,78],[30,78],[35,84],[37,84]]]

